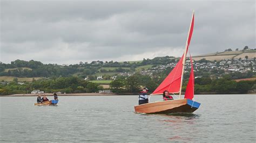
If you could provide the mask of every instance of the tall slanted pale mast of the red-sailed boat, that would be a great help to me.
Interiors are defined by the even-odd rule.
[[[190,31],[191,31],[191,26],[192,26],[192,22],[193,22],[193,18],[194,18],[194,10],[192,12],[192,18],[191,18],[191,23],[190,23],[190,30],[188,30],[188,34],[187,34],[187,41],[186,41],[186,46],[185,46],[185,52],[184,52],[184,57],[183,57],[183,62],[182,62],[182,73],[181,73],[181,82],[180,82],[180,89],[179,89],[179,99],[180,99],[180,95],[181,95],[181,89],[182,89],[182,83],[183,83],[183,73],[184,73],[184,67],[185,67],[185,62],[186,62],[186,55],[187,55],[187,49],[189,46],[190,42]],[[192,36],[192,34],[191,34]]]

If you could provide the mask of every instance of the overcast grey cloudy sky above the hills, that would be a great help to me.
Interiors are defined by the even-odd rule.
[[[0,61],[134,61],[255,48],[255,1],[1,0]]]

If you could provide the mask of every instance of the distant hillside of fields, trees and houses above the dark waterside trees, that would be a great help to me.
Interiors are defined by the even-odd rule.
[[[225,51],[210,53],[204,55],[193,56],[195,60],[195,68],[200,68],[210,72],[212,69],[222,70],[226,72],[240,71],[245,72],[248,70],[255,70],[254,58],[256,56],[256,50],[248,51]],[[247,62],[247,58],[251,62]],[[18,81],[32,81],[42,77],[69,77],[76,76],[87,78],[88,80],[97,80],[98,77],[102,80],[112,80],[114,76],[130,76],[136,72],[143,75],[152,76],[154,73],[159,73],[166,68],[173,68],[179,58],[173,56],[156,57],[153,59],[143,59],[142,61],[123,61],[123,62],[103,62],[92,61],[91,63],[80,62],[76,65],[60,66],[56,64],[43,64],[39,61],[12,61],[11,64],[5,64],[0,62],[0,81],[12,81],[17,77]],[[203,59],[203,60],[202,60]],[[218,61],[218,63],[207,63],[207,61]],[[219,61],[224,59],[238,59],[230,65],[232,61],[224,61],[220,65]],[[204,65],[197,65],[197,62]],[[225,66],[225,64],[229,66]],[[251,66],[250,66],[251,64]],[[239,65],[243,65],[242,67]],[[238,69],[239,68],[239,69]],[[102,83],[103,84],[103,83]]]

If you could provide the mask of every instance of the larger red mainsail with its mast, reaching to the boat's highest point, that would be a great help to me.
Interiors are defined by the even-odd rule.
[[[193,28],[194,28],[194,12],[192,15],[190,30],[188,31],[186,47],[185,47],[185,52],[183,56],[181,56],[177,65],[173,68],[173,70],[165,78],[165,80],[158,86],[158,88],[154,90],[152,95],[163,94],[165,90],[169,91],[170,93],[178,93],[178,92],[181,93],[184,65],[185,65],[187,50],[188,50],[188,47],[190,46],[190,40],[193,34]]]

